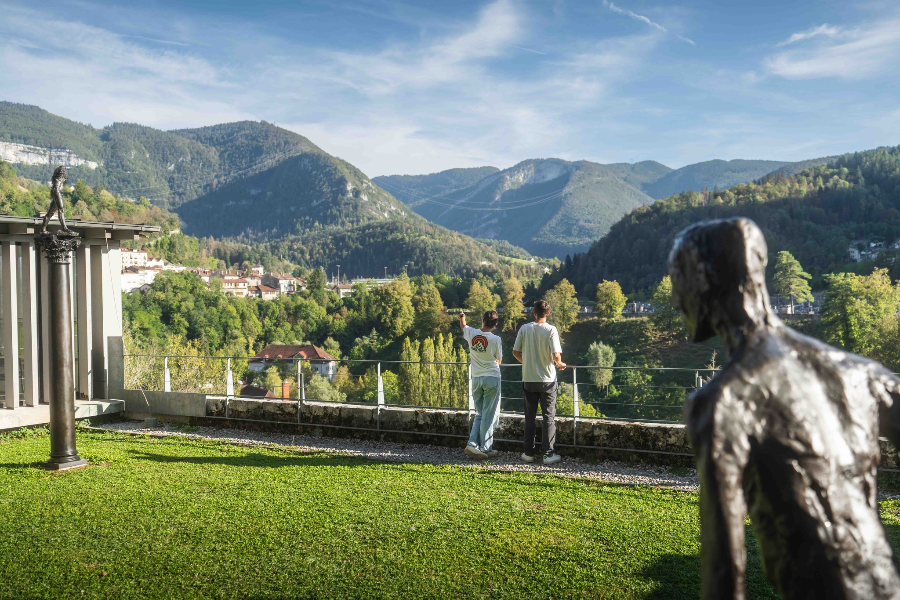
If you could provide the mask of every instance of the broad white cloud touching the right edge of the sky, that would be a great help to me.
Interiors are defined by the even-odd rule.
[[[763,63],[766,70],[786,79],[864,79],[886,73],[897,65],[900,18],[884,19],[833,34],[816,34],[817,29],[821,27],[794,34],[786,43],[803,35],[806,37],[795,41],[818,38],[818,43],[767,57]]]

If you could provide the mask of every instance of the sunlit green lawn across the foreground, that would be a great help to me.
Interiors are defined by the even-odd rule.
[[[79,430],[0,440],[2,598],[695,598],[697,497]],[[885,505],[896,532],[900,503]],[[769,597],[751,543],[750,597]]]

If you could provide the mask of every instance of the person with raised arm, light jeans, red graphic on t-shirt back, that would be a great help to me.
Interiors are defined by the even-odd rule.
[[[477,459],[496,456],[494,428],[500,421],[500,362],[503,344],[491,333],[500,320],[496,310],[489,310],[481,318],[481,329],[466,326],[466,313],[459,313],[459,326],[469,346],[472,359],[472,398],[475,401],[475,420],[464,452]]]

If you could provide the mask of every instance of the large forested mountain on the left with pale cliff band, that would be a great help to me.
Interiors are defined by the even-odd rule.
[[[482,242],[428,223],[353,165],[264,121],[174,131],[130,123],[95,129],[0,102],[0,159],[6,156],[19,175],[38,181],[55,164],[68,165],[70,183],[83,179],[94,188],[91,202],[102,208],[115,200],[118,213],[103,214],[125,215],[129,206],[150,214],[149,203],[129,198],[161,207],[158,219],[173,219],[165,209],[174,209],[185,233],[224,239],[204,243],[227,262],[250,256],[246,244],[265,255],[277,249],[305,267],[341,264],[349,276],[376,275],[384,267],[397,273],[407,264],[412,272],[472,273],[506,260]],[[438,179],[464,186],[491,170],[455,170]],[[31,212],[36,204],[17,201],[9,210]],[[195,238],[185,243],[202,245]]]

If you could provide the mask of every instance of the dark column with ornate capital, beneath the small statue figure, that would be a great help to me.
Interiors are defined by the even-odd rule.
[[[75,356],[72,351],[72,291],[70,261],[78,247],[78,234],[69,231],[40,233],[35,242],[47,255],[49,280],[50,361],[44,366],[50,380],[50,460],[44,467],[54,471],[87,465],[75,449]]]

